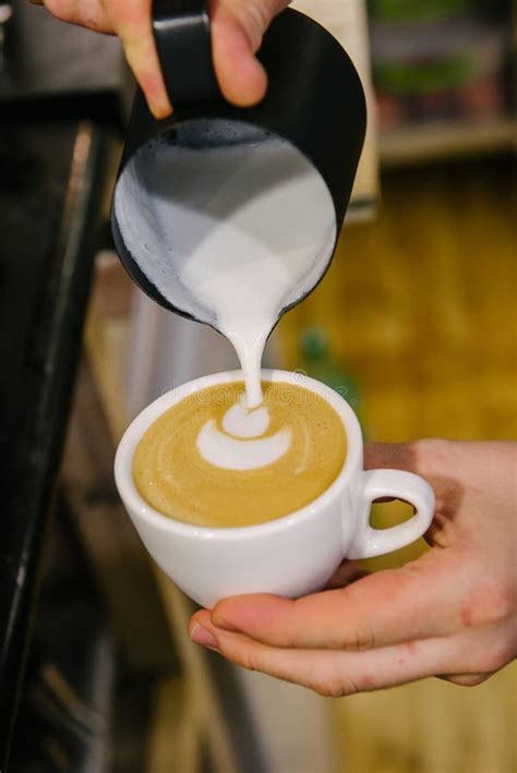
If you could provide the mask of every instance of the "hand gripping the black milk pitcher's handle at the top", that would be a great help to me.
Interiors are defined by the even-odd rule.
[[[65,22],[116,33],[153,113],[157,118],[170,113],[152,33],[152,0],[31,1],[45,4],[53,16]],[[235,105],[254,105],[264,96],[267,77],[254,55],[270,21],[289,2],[209,0],[214,65],[223,94]]]

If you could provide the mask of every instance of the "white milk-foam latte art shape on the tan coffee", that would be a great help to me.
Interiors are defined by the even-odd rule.
[[[255,470],[278,461],[289,450],[291,431],[284,427],[261,437],[269,426],[269,412],[232,406],[223,418],[221,432],[211,419],[197,435],[197,450],[205,461],[224,470]]]

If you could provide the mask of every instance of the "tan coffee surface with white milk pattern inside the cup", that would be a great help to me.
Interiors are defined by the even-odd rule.
[[[262,387],[256,409],[245,408],[244,384],[232,383],[159,416],[133,457],[141,496],[177,520],[240,527],[286,516],[328,488],[346,458],[338,414],[301,386]]]

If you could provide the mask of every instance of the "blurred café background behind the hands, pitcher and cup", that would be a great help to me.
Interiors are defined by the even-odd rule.
[[[293,5],[349,51],[370,122],[334,263],[267,364],[345,386],[369,439],[515,439],[510,2]],[[113,253],[132,93],[117,40],[0,2],[0,769],[515,773],[515,664],[473,689],[428,679],[330,701],[188,641],[192,606],[144,555],[113,449],[154,397],[236,361]]]

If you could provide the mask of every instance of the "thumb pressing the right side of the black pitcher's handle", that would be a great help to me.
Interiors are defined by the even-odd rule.
[[[260,101],[267,75],[255,58],[262,37],[289,0],[212,0],[212,47],[220,89],[228,101],[249,107]]]

